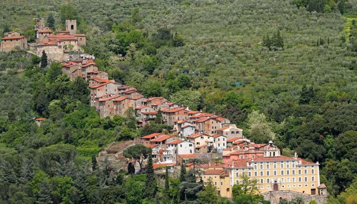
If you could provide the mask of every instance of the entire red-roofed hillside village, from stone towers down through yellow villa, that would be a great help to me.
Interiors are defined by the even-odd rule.
[[[175,171],[184,164],[187,170],[201,170],[203,183],[206,185],[212,180],[218,194],[228,198],[232,197],[232,186],[248,176],[257,181],[264,198],[274,203],[297,196],[305,202],[326,201],[328,193],[326,185],[320,183],[318,162],[305,161],[296,153],[293,157],[283,156],[272,141],[256,144],[221,115],[193,111],[164,97],[145,97],[135,87],[109,79],[106,72],[99,70],[95,56],[70,54],[83,51],[81,46],[86,44],[86,35],[76,33],[76,20],[66,20],[65,27],[66,30],[57,30],[54,34],[44,26],[43,19],[37,19],[36,43],[28,44],[24,36],[12,31],[1,39],[1,51],[30,49],[39,56],[45,52],[50,62],[61,62],[62,73],[71,81],[80,77],[89,84],[90,106],[95,107],[102,118],[126,116],[133,111],[137,126],[144,127],[159,117],[171,130],[143,136],[139,141],[152,149],[157,169],[168,166],[170,171]],[[212,154],[221,157],[221,161],[209,158],[207,164],[192,162]]]

